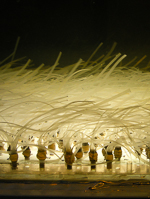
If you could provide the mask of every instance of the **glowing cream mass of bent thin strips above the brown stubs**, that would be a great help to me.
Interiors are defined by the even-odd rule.
[[[113,49],[98,61],[91,61],[92,55],[64,68],[58,67],[61,53],[47,69],[44,64],[28,69],[30,60],[16,68],[16,61],[1,66],[0,143],[5,151],[0,153],[22,154],[21,146],[29,146],[54,153],[48,161],[60,161],[62,140],[74,155],[88,142],[98,151],[97,164],[104,162],[105,146],[108,151],[121,146],[131,161],[149,164],[141,148],[150,146],[150,72],[123,65],[126,55],[111,55]],[[55,150],[48,149],[49,143],[56,144]],[[86,159],[80,163],[87,164]]]

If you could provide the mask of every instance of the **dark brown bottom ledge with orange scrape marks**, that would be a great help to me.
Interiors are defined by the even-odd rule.
[[[0,181],[1,196],[150,197],[150,183],[128,181]]]

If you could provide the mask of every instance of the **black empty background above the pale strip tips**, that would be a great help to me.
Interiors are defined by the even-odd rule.
[[[113,42],[129,59],[150,54],[149,0],[0,0],[0,60],[20,42],[15,58],[26,56],[36,66],[60,65],[88,59]],[[149,61],[148,57],[145,61]]]

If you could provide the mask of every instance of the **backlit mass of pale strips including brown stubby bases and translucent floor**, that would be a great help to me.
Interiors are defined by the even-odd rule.
[[[150,179],[150,72],[143,57],[0,67],[0,179]],[[58,66],[59,65],[59,66]]]

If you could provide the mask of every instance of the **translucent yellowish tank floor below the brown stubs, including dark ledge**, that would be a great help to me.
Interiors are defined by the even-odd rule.
[[[75,162],[67,170],[65,162],[53,156],[39,167],[34,156],[24,160],[19,156],[12,169],[9,156],[0,158],[0,196],[5,197],[150,197],[150,165],[139,160],[122,158],[113,161],[112,168],[99,160],[91,170],[88,160]],[[100,164],[100,162],[103,162]]]

